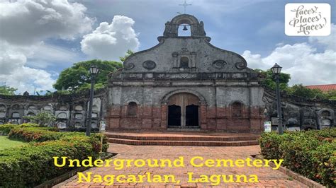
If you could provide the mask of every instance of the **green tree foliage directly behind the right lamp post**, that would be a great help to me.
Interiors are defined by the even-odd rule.
[[[255,69],[254,71],[257,71],[257,73],[262,74],[262,76],[264,76],[265,79],[264,81],[262,81],[262,85],[264,85],[265,87],[271,90],[275,90],[276,82],[274,80],[274,74],[272,73],[271,69],[267,71]],[[279,80],[280,90],[286,90],[289,87],[288,83],[290,79],[291,79],[290,74],[280,73],[280,80]]]

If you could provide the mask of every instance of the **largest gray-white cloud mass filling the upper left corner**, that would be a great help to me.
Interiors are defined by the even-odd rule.
[[[72,40],[91,31],[93,18],[86,7],[67,0],[0,1],[0,80],[6,86],[26,90],[52,90],[55,72],[46,68],[52,62],[72,61],[77,55],[48,45],[50,37]]]

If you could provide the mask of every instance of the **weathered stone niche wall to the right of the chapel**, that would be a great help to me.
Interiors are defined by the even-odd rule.
[[[267,109],[266,119],[272,122],[272,129],[277,129],[275,93],[266,90],[263,100]],[[336,127],[336,101],[312,100],[282,93],[281,109],[284,126],[289,130]]]

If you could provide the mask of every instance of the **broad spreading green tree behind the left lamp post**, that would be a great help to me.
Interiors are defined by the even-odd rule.
[[[89,67],[91,65],[96,65],[99,68],[95,89],[106,86],[108,74],[122,67],[122,64],[119,62],[101,61],[99,59],[78,62],[60,73],[59,78],[57,78],[57,81],[54,84],[54,88],[57,90],[69,91],[89,89],[91,84]]]

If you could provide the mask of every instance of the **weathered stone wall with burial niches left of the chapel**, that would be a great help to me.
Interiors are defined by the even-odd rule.
[[[39,112],[50,112],[57,117],[56,127],[60,129],[85,129],[89,93],[77,95],[0,95],[0,124],[28,122],[26,116]],[[99,90],[94,98],[92,109],[92,128],[106,116],[106,90]]]

